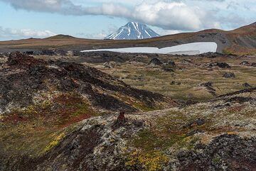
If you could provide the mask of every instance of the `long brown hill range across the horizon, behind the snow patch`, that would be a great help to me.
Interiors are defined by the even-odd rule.
[[[166,46],[181,45],[183,43],[209,42],[218,44],[218,53],[255,54],[256,52],[256,24],[222,31],[209,29],[195,33],[178,33],[164,35],[158,38],[144,40],[92,40],[74,38],[70,35],[55,35],[44,39],[10,40],[0,42],[0,52],[14,50],[87,50],[92,48],[124,48],[137,46]]]

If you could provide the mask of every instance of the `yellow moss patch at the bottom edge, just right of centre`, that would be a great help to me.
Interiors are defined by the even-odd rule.
[[[142,165],[147,171],[158,171],[161,170],[168,161],[168,157],[159,151],[140,153],[138,150],[135,150],[129,155],[125,165],[128,167]]]

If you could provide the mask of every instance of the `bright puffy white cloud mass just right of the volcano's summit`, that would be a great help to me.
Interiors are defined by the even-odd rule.
[[[172,30],[196,30],[202,27],[203,13],[198,7],[190,7],[181,2],[156,4],[143,3],[136,6],[133,13],[135,20]]]

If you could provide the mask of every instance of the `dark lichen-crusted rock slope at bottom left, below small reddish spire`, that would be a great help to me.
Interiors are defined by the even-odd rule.
[[[127,171],[123,142],[144,128],[145,123],[125,119],[113,128],[116,119],[113,116],[90,118],[38,158],[25,155],[15,160],[9,158],[5,163],[1,160],[6,156],[0,158],[0,170]]]

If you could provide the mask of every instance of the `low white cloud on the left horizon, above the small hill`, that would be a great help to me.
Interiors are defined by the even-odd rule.
[[[32,29],[11,29],[2,28],[0,26],[0,37],[1,38],[46,38],[49,36],[56,35],[51,31],[36,31]]]

